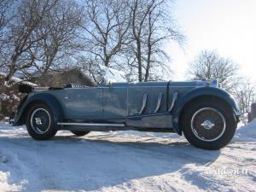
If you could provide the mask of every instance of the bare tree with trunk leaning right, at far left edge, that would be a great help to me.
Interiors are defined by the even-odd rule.
[[[7,44],[5,48],[8,68],[7,82],[16,71],[32,67],[35,61],[32,48],[43,38],[43,36],[35,35],[35,32],[56,2],[57,0],[24,0],[17,5],[17,11],[7,26],[9,35],[4,40]]]

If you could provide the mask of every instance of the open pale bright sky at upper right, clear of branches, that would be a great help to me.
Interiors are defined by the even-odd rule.
[[[178,80],[201,49],[216,49],[256,82],[256,0],[176,0],[172,13],[187,38],[168,48]]]

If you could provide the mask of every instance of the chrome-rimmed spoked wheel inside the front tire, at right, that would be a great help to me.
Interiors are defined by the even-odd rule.
[[[222,137],[226,129],[224,115],[215,108],[201,108],[191,119],[191,130],[204,142],[213,142]]]

